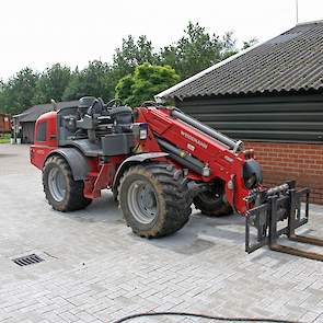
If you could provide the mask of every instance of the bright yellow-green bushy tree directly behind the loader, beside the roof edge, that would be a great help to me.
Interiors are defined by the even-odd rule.
[[[122,78],[116,86],[116,97],[130,106],[137,106],[153,95],[174,85],[180,76],[170,66],[152,66],[145,62]]]

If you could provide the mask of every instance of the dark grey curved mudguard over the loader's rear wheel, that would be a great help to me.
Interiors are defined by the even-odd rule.
[[[86,162],[86,158],[76,148],[59,148],[53,150],[47,159],[54,154],[61,155],[69,164],[73,180],[81,181],[86,177],[90,168]]]

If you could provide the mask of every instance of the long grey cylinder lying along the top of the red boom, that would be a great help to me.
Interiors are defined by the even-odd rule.
[[[200,130],[204,134],[207,134],[208,136],[217,139],[218,141],[224,143],[226,146],[228,146],[230,149],[232,149],[234,152],[239,151],[241,149],[241,145],[242,141],[234,141],[231,138],[216,131],[215,129],[203,125],[200,122],[196,120],[195,118],[184,114],[183,112],[181,112],[180,109],[173,109],[171,115],[174,118],[177,118],[193,127],[195,127],[196,129]]]

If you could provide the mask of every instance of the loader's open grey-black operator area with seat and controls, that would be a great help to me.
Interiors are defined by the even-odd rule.
[[[82,97],[77,107],[57,113],[59,147],[74,147],[85,157],[131,153],[140,137],[140,124],[134,124],[132,109],[119,100],[104,103],[93,96]]]

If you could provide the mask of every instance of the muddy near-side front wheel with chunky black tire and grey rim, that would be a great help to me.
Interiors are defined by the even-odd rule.
[[[142,238],[160,238],[176,232],[188,221],[192,212],[187,180],[183,171],[172,164],[131,166],[122,177],[118,193],[128,227]]]

